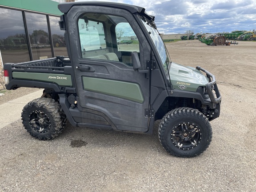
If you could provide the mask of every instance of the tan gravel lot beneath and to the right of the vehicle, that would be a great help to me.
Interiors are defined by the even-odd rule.
[[[255,192],[256,42],[167,44],[172,61],[216,75],[222,95],[209,148],[194,158],[164,151],[153,135],[70,124],[54,140],[32,138],[21,120],[1,129],[0,191]],[[1,98],[0,98],[1,99]]]

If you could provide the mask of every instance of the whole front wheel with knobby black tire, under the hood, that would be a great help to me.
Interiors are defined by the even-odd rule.
[[[158,137],[164,149],[173,156],[198,156],[212,141],[212,127],[198,110],[176,108],[161,120]]]

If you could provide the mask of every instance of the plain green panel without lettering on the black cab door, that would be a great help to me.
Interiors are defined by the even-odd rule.
[[[144,102],[144,96],[139,84],[87,76],[83,76],[82,80],[84,90],[116,96],[138,103]]]

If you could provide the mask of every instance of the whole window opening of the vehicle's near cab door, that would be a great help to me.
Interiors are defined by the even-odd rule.
[[[77,24],[82,58],[111,60],[132,67],[132,52],[140,56],[139,40],[124,17],[84,13]]]

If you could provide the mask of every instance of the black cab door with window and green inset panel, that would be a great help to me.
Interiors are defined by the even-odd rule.
[[[80,123],[147,132],[150,78],[134,71],[132,52],[138,53],[144,70],[150,49],[132,14],[116,8],[72,7],[68,32],[77,104],[84,112]]]

